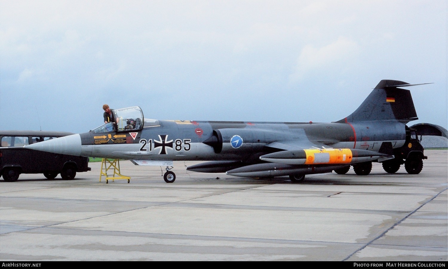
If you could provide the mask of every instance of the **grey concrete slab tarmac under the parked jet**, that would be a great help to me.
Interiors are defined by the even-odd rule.
[[[448,153],[423,170],[369,176],[251,179],[121,161],[125,180],[99,182],[101,163],[73,181],[0,180],[0,260],[448,259]]]

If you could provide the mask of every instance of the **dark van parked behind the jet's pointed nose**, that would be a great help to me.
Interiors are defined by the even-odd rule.
[[[71,135],[70,132],[0,131],[0,175],[4,181],[17,181],[19,175],[43,173],[48,179],[58,174],[71,180],[76,172],[90,171],[87,157],[26,149],[23,146]]]

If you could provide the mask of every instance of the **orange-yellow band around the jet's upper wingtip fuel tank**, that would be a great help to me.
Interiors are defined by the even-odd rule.
[[[305,164],[333,164],[350,163],[352,151],[350,149],[309,149],[306,154]]]

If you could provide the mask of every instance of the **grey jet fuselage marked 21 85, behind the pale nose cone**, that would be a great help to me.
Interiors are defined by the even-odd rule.
[[[216,143],[207,140],[220,132]],[[145,120],[140,130],[90,131],[79,134],[82,156],[147,160],[245,160],[253,162],[279,149],[276,141],[306,141],[328,148],[378,151],[390,141],[394,148],[405,142],[405,124],[397,121],[356,123],[279,123]],[[233,141],[234,140],[238,141]],[[221,141],[219,141],[219,138]],[[239,143],[239,144],[238,144]],[[316,143],[316,144],[317,144]]]

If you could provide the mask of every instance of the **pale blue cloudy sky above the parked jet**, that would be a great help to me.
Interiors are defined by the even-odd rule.
[[[381,79],[447,123],[446,0],[0,0],[0,129],[145,118],[331,122]]]

